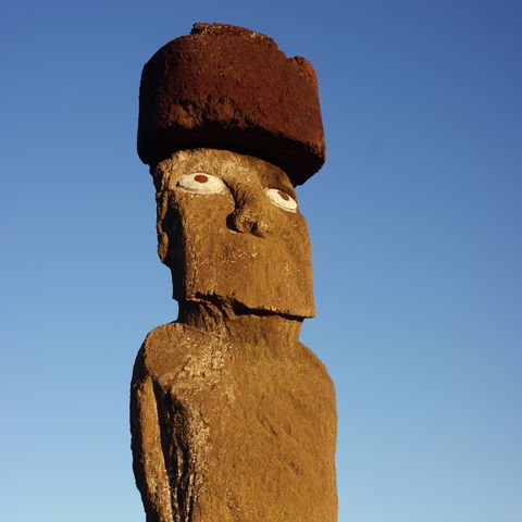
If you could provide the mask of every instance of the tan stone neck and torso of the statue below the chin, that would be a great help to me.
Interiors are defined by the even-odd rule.
[[[299,326],[246,315],[148,335],[132,422],[149,522],[335,520],[335,393]]]

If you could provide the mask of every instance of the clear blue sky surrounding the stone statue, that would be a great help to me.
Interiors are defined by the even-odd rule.
[[[4,0],[0,518],[145,522],[128,385],[177,308],[138,87],[194,22],[318,72],[301,340],[337,389],[339,522],[521,522],[522,4],[505,0]]]

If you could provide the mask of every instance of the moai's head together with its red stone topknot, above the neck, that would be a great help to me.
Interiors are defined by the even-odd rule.
[[[154,177],[175,299],[313,316],[294,189],[325,160],[307,60],[246,28],[195,24],[144,67],[138,153]]]

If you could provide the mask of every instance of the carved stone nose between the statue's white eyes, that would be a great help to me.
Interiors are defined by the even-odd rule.
[[[264,194],[261,190],[238,190],[235,200],[236,209],[228,216],[229,226],[236,232],[264,237],[269,229]]]

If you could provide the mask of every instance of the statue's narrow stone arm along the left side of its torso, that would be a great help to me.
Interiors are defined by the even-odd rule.
[[[147,522],[173,522],[153,381],[145,368],[142,350],[136,359],[130,385],[134,475],[141,493]]]

